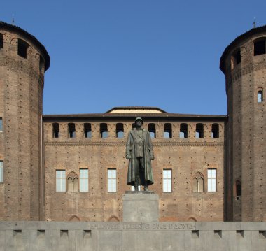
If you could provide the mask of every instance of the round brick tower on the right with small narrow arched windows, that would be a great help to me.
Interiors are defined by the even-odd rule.
[[[228,96],[225,220],[266,221],[266,26],[230,43],[220,68]]]

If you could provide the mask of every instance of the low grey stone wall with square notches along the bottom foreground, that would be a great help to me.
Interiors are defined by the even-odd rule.
[[[0,250],[266,250],[266,222],[0,222]]]

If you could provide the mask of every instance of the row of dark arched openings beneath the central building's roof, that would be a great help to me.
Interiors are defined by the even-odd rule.
[[[132,124],[132,128],[134,128],[134,124]],[[151,134],[151,138],[156,138],[156,126],[153,123],[148,124],[148,131]],[[108,138],[108,124],[101,123],[99,125],[99,134],[101,138]],[[92,138],[92,125],[90,123],[83,124],[83,135],[85,138]],[[52,124],[52,137],[59,138],[60,136],[60,126],[58,123]],[[76,138],[76,124],[69,123],[68,124],[68,136],[69,138]],[[164,138],[172,138],[172,124],[166,123],[164,124]],[[195,129],[195,137],[196,138],[204,138],[204,124],[196,124]],[[219,138],[219,124],[211,125],[211,137]],[[118,123],[116,124],[116,138],[124,138],[124,124]],[[180,124],[179,127],[179,138],[188,138],[188,124],[183,123]]]

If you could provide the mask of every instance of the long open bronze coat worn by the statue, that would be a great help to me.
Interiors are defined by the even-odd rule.
[[[144,169],[145,169],[145,180],[147,185],[153,184],[153,171],[151,169],[151,155],[153,155],[153,145],[151,143],[151,135],[146,130],[143,129],[144,133]],[[128,164],[128,172],[127,172],[127,185],[134,185],[136,181],[136,140],[137,137],[137,129],[132,129],[127,137],[127,148],[126,148],[126,156],[130,155],[131,159]]]

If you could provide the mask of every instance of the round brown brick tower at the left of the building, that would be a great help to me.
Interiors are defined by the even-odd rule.
[[[43,219],[43,84],[49,65],[34,36],[0,22],[0,220]]]

